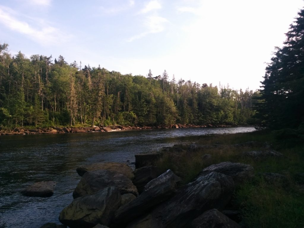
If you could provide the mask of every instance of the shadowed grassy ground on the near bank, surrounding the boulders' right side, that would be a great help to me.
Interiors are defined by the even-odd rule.
[[[235,144],[255,141],[253,145]],[[246,227],[304,227],[304,146],[300,141],[278,140],[276,133],[256,131],[208,136],[199,147],[176,145],[158,162],[184,175],[184,184],[211,164],[241,162],[254,167],[255,178],[235,190],[232,206],[241,211]],[[283,157],[250,158],[244,151],[276,150]],[[208,155],[206,155],[208,154]],[[262,173],[278,173],[285,178],[269,183]]]

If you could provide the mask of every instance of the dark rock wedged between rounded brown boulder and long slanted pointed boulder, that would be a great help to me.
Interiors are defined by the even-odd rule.
[[[156,166],[144,166],[134,170],[133,184],[136,186],[139,193],[143,191],[143,187],[151,180],[157,178],[161,172]]]

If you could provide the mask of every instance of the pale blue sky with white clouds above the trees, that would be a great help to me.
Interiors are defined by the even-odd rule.
[[[303,0],[0,0],[0,43],[26,57],[256,90]]]

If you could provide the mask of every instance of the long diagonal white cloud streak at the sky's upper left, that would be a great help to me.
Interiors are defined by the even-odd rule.
[[[30,39],[42,45],[57,43],[56,40],[64,42],[70,37],[64,35],[59,29],[44,23],[43,20],[40,19],[33,20],[36,22],[38,21],[40,24],[30,25],[28,22],[17,19],[17,14],[17,12],[10,8],[0,6],[0,23],[13,31],[28,36]]]

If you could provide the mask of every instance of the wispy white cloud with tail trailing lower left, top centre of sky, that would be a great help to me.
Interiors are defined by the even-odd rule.
[[[147,36],[150,33],[160,33],[164,31],[165,26],[164,23],[169,22],[166,18],[160,16],[149,16],[147,17],[146,21],[144,22],[144,26],[148,29],[147,31],[140,33],[138,35],[132,36],[128,42],[132,42],[133,40],[137,40]]]

